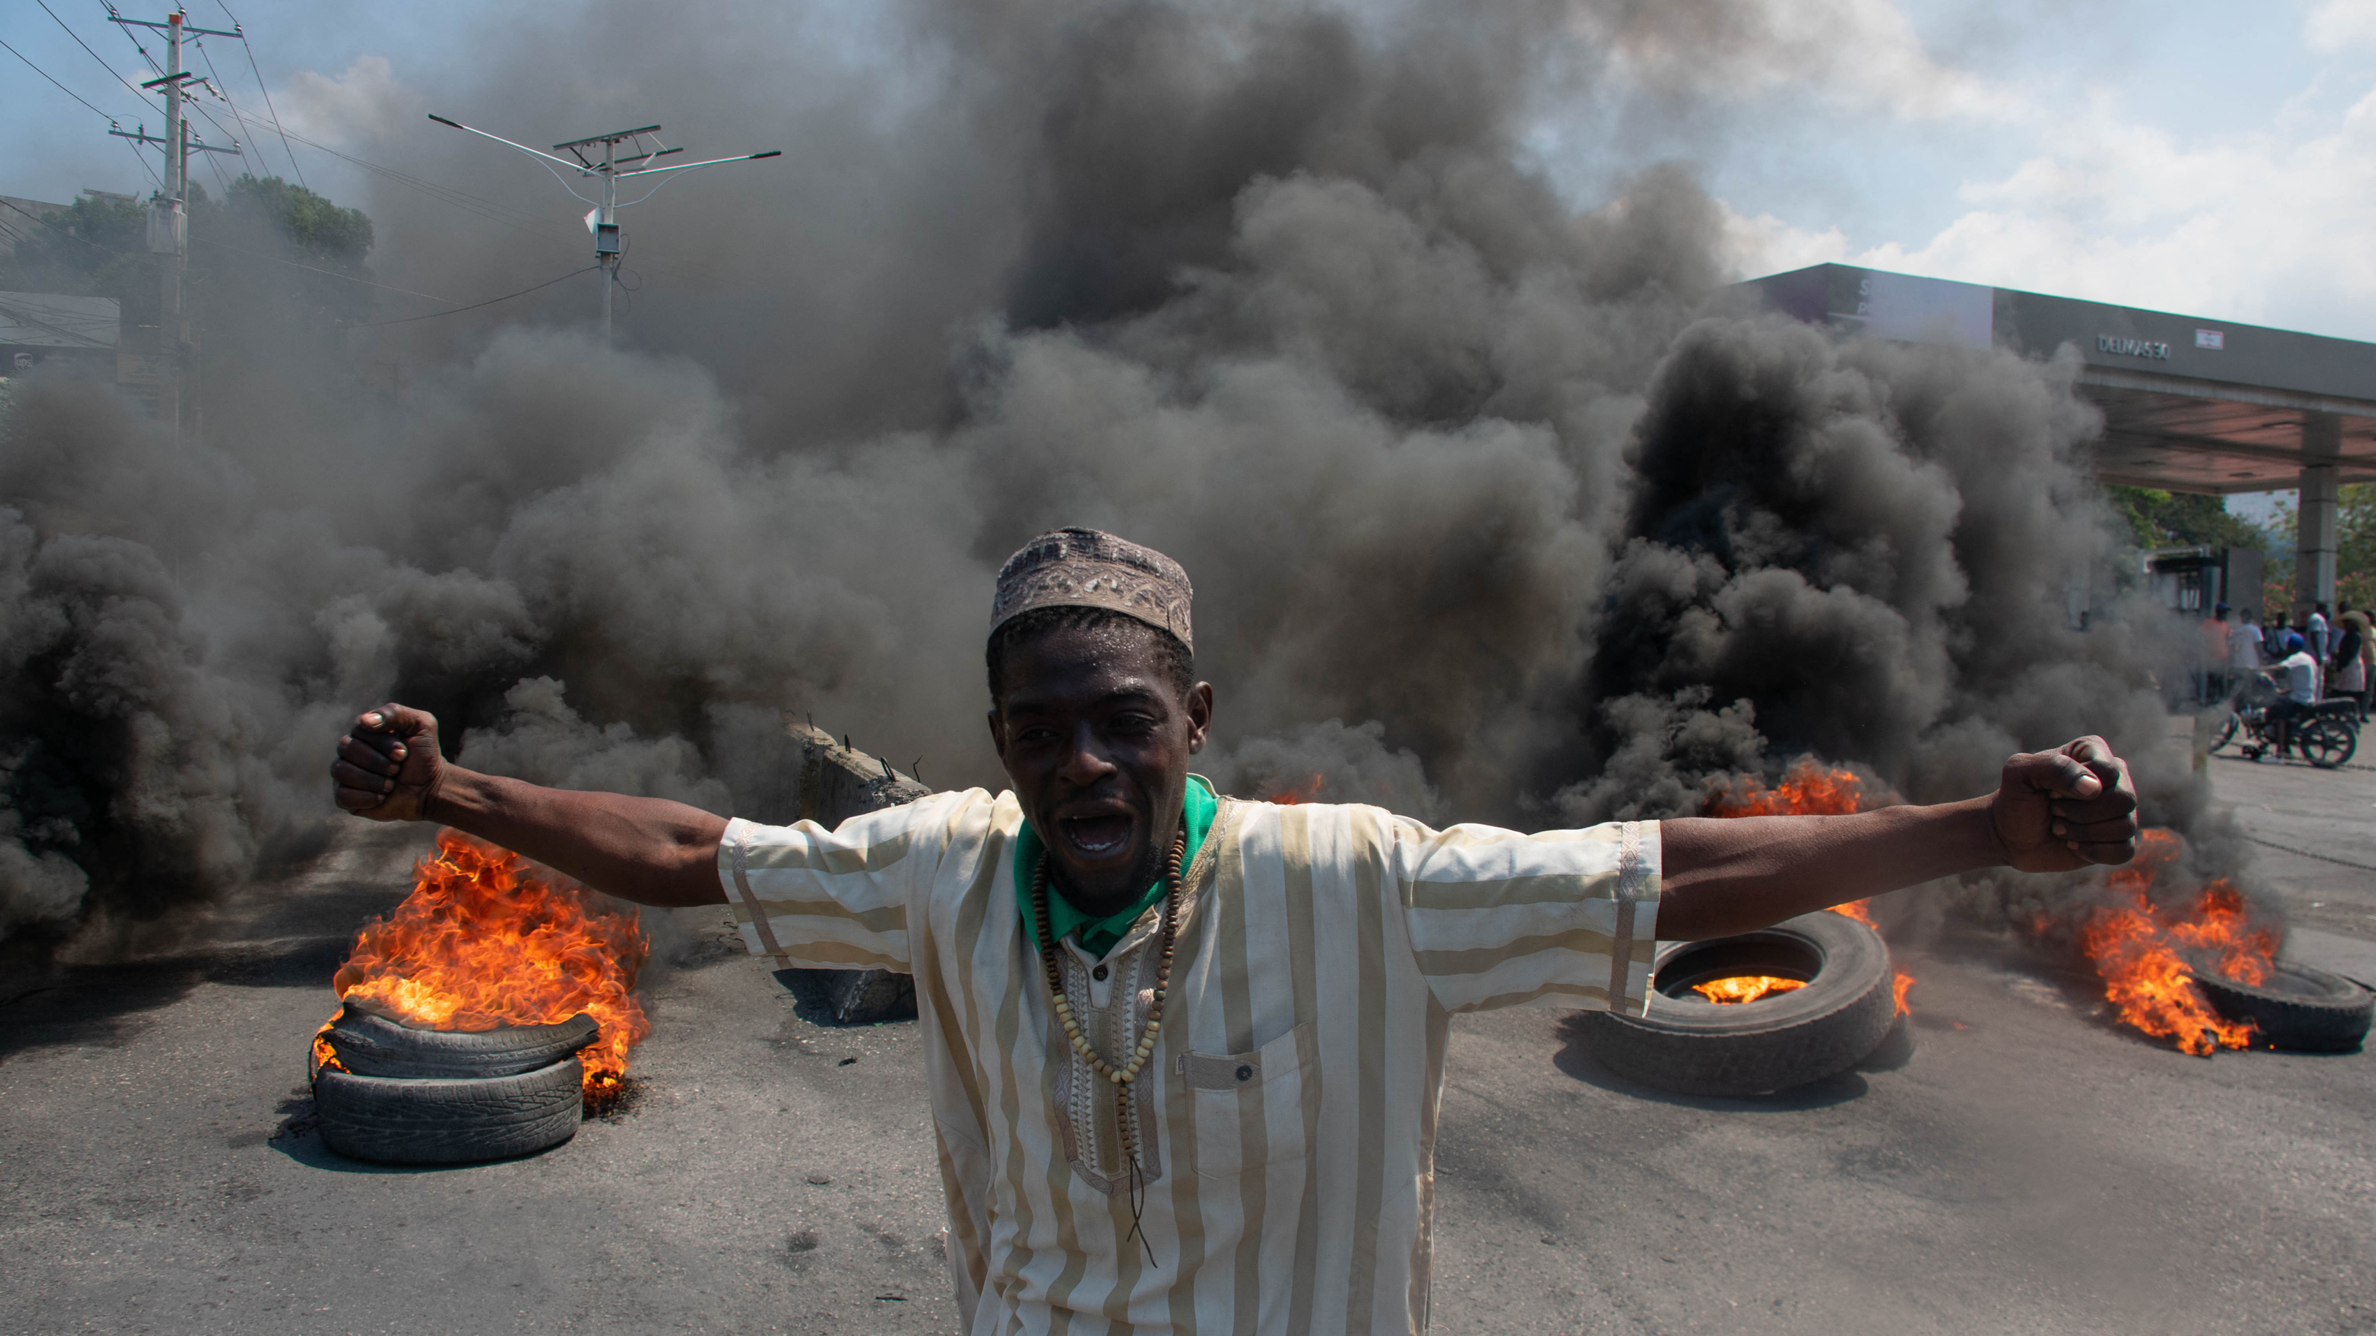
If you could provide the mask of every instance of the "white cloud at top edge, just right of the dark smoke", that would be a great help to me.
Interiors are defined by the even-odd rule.
[[[2008,119],[2022,100],[1939,64],[1891,0],[1585,0],[1575,26],[1613,71],[1663,93],[1813,88],[1906,119]]]

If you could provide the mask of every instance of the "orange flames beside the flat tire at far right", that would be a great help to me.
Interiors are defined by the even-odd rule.
[[[2143,832],[2136,861],[2105,872],[2112,901],[2086,913],[2079,946],[2124,1025],[2210,1058],[2217,1048],[2250,1046],[2252,1022],[2231,1022],[2203,1001],[2195,963],[2260,984],[2276,960],[2276,932],[2248,925],[2243,894],[2226,880],[2205,882],[2184,910],[2157,906],[2148,891],[2179,875],[2184,849],[2169,830]]]

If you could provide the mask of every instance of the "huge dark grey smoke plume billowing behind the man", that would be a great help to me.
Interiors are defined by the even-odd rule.
[[[330,739],[383,699],[473,765],[718,811],[782,811],[786,708],[998,784],[991,575],[1060,523],[1188,566],[1243,792],[1547,825],[1811,751],[1963,796],[2100,730],[2160,820],[2203,820],[2141,613],[2065,628],[2110,552],[2069,368],[1730,307],[1677,166],[1575,212],[1518,147],[1597,59],[1559,5],[915,2],[870,29],[896,59],[779,7],[696,43],[694,10],[568,38],[634,31],[632,109],[482,19],[366,150],[527,202],[418,112],[558,140],[651,100],[672,140],[782,143],[630,214],[625,349],[563,285],[311,361],[228,340],[197,442],[19,395],[0,932],[304,853],[342,820]],[[423,290],[584,245],[394,183],[366,207]]]

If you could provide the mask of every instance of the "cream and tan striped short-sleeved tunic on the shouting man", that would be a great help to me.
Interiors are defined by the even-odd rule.
[[[1015,903],[1019,827],[1012,794],[972,789],[839,830],[734,820],[718,856],[751,951],[915,975],[974,1336],[1423,1329],[1449,1017],[1639,1015],[1649,989],[1656,823],[1428,830],[1224,799],[1183,880],[1159,1044],[1124,1101],[1055,1017]],[[1143,1029],[1157,918],[1105,958],[1060,949],[1107,1058]],[[1121,1120],[1143,1146],[1136,1191]]]

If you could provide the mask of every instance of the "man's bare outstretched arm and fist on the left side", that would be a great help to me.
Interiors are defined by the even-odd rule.
[[[665,799],[546,789],[449,765],[437,718],[387,704],[356,716],[330,763],[337,806],[371,820],[435,820],[646,906],[725,903],[727,820]]]

